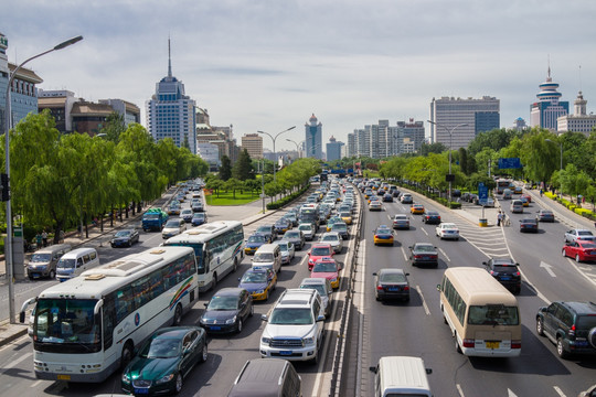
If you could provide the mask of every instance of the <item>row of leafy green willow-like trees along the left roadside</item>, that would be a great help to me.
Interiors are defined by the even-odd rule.
[[[130,203],[152,201],[177,181],[203,176],[209,164],[171,139],[113,116],[99,136],[61,135],[47,110],[10,132],[13,214],[54,235]],[[3,139],[3,137],[2,137]],[[3,154],[3,147],[0,150]],[[6,217],[6,216],[4,216]]]

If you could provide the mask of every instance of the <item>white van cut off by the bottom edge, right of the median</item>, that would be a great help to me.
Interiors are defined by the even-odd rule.
[[[424,366],[421,357],[381,357],[376,366],[370,367],[374,377],[374,396],[427,396],[432,397],[426,374],[433,371]]]

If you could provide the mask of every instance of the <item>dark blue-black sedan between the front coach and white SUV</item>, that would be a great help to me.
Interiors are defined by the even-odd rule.
[[[253,296],[244,288],[222,288],[211,297],[199,324],[207,333],[241,333],[253,315]]]

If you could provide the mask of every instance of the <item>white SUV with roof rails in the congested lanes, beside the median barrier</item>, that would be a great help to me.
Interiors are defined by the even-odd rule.
[[[263,358],[309,361],[316,364],[324,335],[324,313],[319,292],[313,289],[287,289],[269,314],[260,336]]]

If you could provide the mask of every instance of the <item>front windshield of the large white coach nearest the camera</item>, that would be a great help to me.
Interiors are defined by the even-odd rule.
[[[94,299],[40,299],[33,342],[42,352],[89,353],[102,350],[100,319]]]

